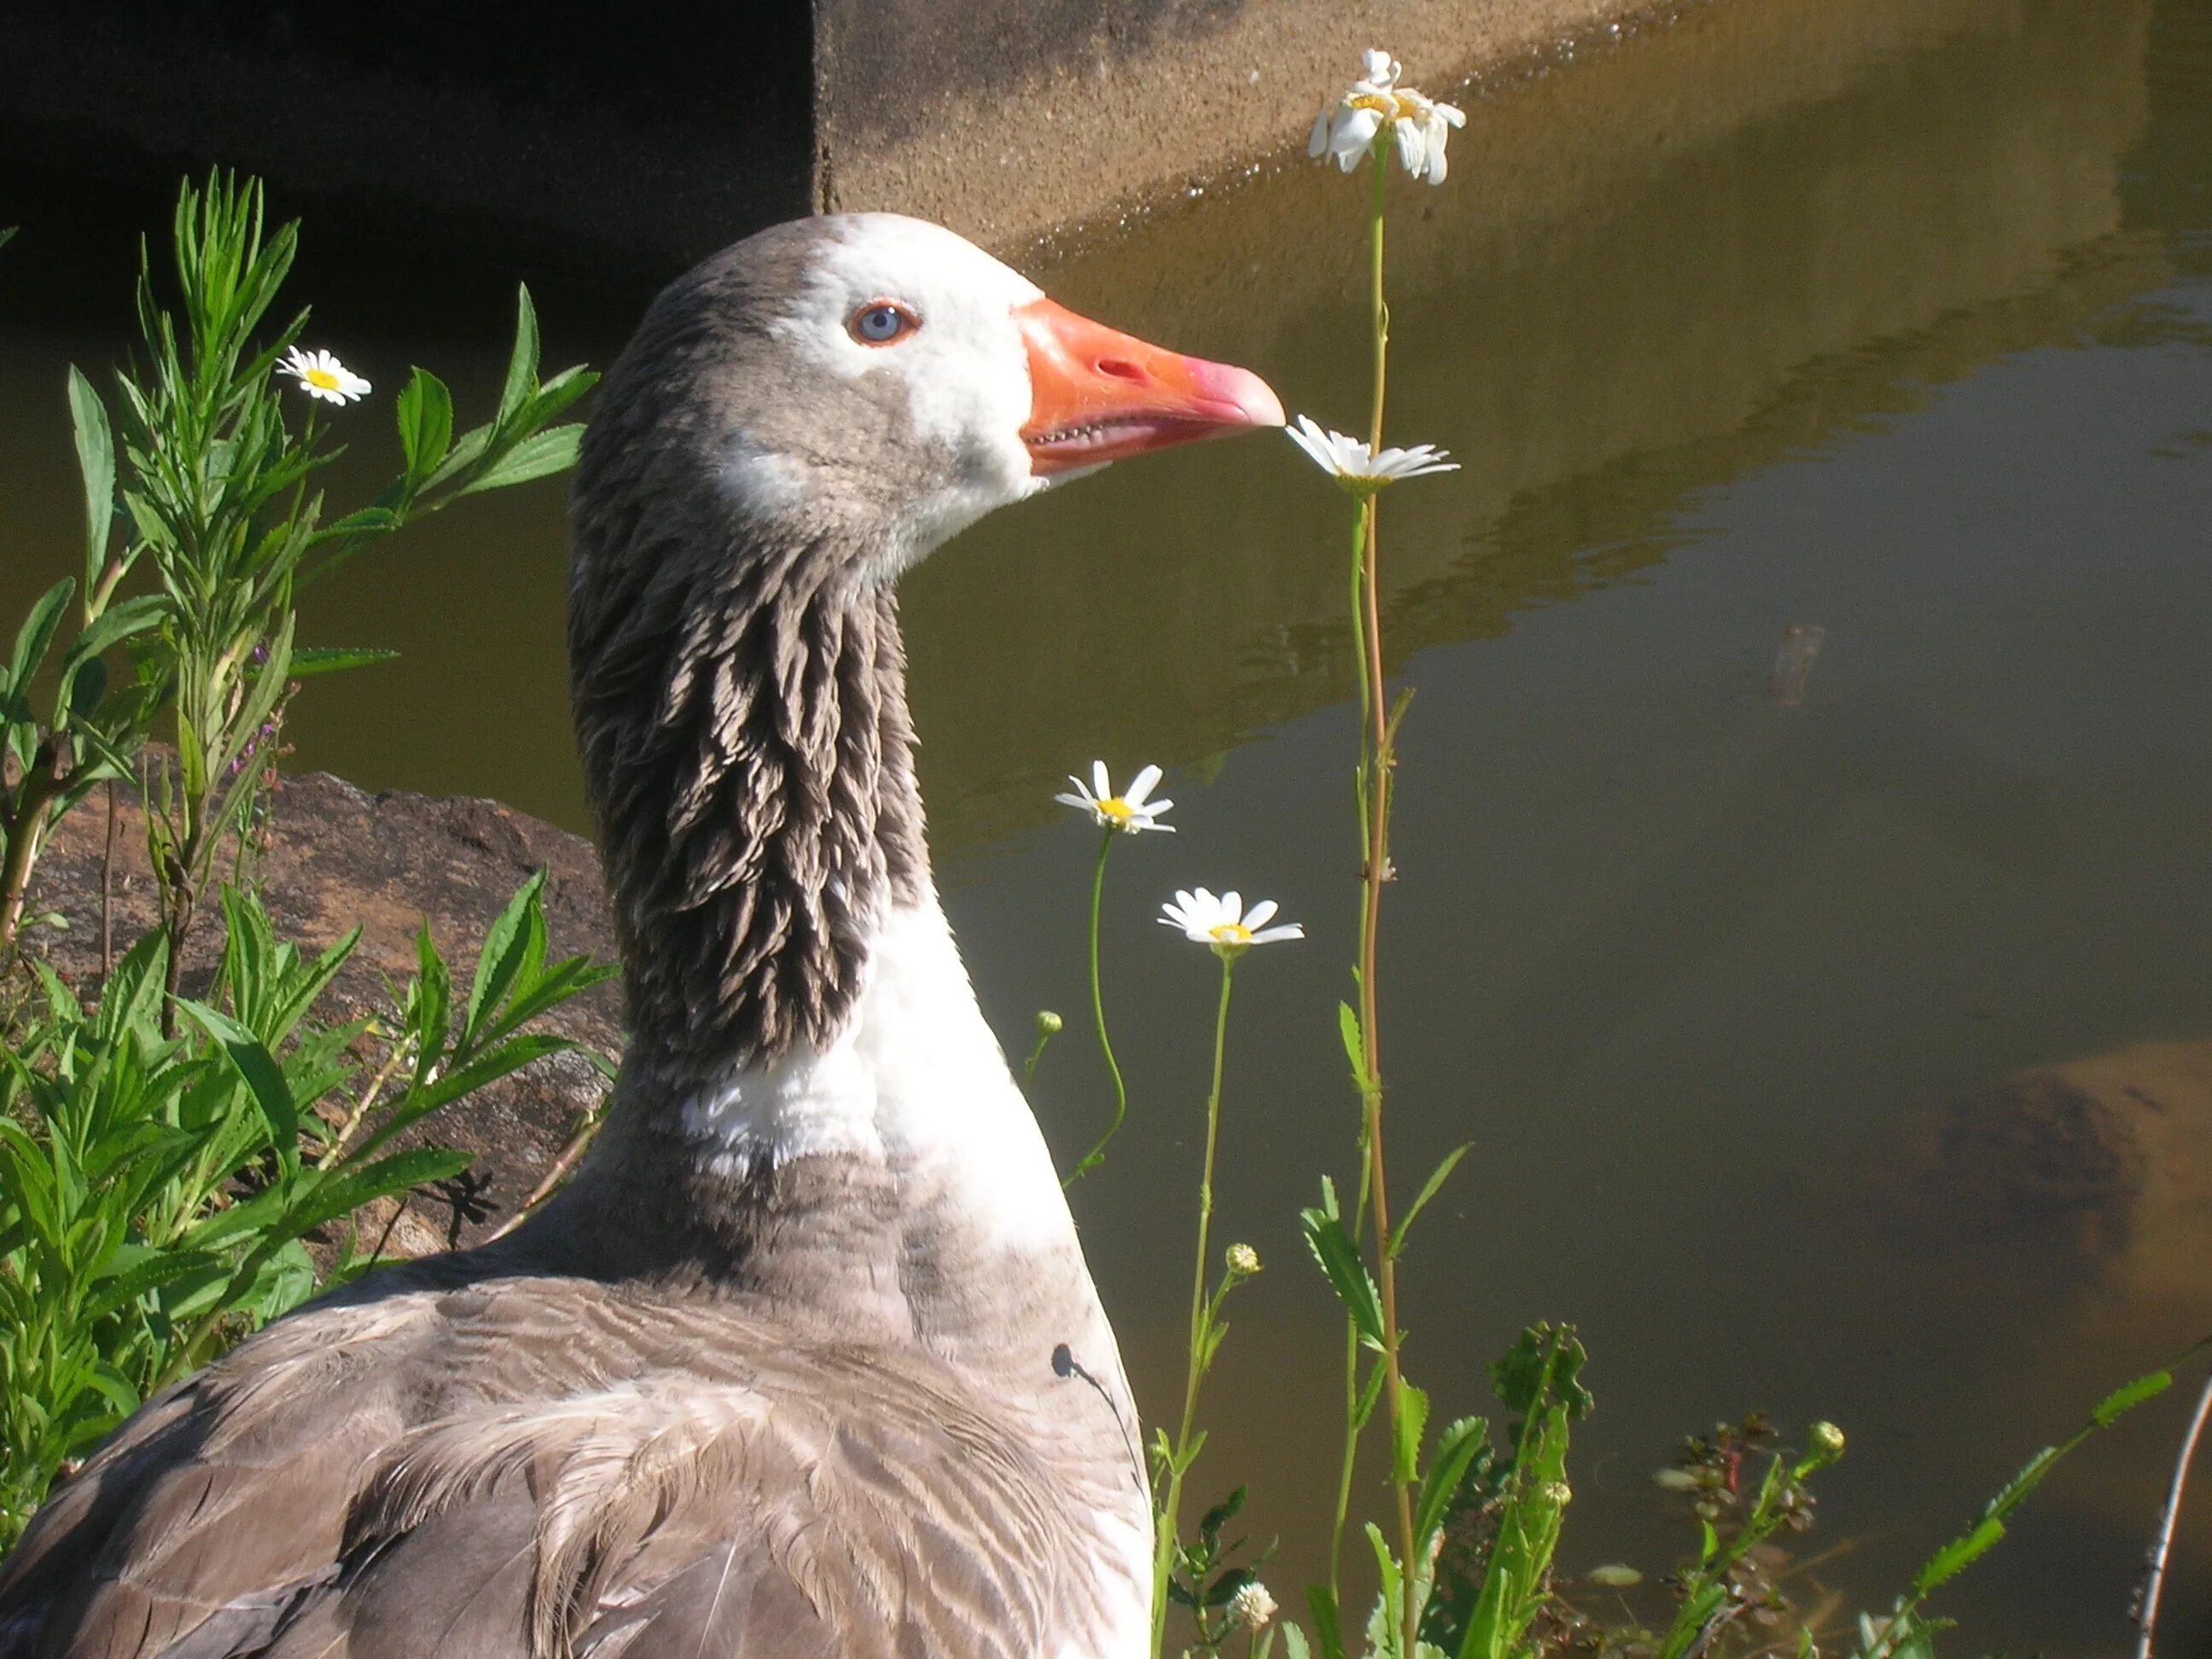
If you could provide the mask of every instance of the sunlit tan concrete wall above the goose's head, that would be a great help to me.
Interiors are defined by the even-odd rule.
[[[816,0],[823,208],[995,248],[1305,144],[1363,46],[1449,97],[1650,0]]]

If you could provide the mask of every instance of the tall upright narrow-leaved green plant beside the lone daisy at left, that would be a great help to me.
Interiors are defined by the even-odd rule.
[[[53,818],[97,783],[128,776],[155,721],[170,717],[175,757],[144,779],[170,1035],[184,945],[223,858],[237,876],[250,856],[254,805],[299,679],[389,655],[299,646],[296,591],[414,518],[566,469],[582,427],[553,422],[597,378],[573,367],[538,380],[538,319],[522,290],[493,418],[456,438],[451,394],[416,369],[396,400],[398,478],[325,522],[314,478],[343,449],[312,403],[294,429],[276,383],[296,361],[307,312],[261,334],[296,248],[296,223],[265,230],[252,179],[212,173],[206,188],[179,190],[175,305],[161,305],[142,248],[142,358],[115,376],[115,420],[82,372],[69,378],[86,504],[82,584],[64,577],[33,606],[0,681],[15,774],[0,792],[0,951],[15,940]],[[155,591],[119,597],[142,562]],[[38,701],[35,681],[80,593],[77,630]],[[131,675],[111,686],[117,646]]]

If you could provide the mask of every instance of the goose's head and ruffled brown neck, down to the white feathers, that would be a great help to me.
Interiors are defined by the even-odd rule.
[[[599,389],[568,659],[633,1026],[684,1071],[830,1042],[920,902],[896,577],[1110,460],[1283,422],[1265,383],[894,215],[677,279]]]

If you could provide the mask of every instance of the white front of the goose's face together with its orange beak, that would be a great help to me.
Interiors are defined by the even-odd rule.
[[[902,564],[1064,476],[1283,425],[1256,374],[1082,319],[951,230],[885,212],[816,223],[827,234],[768,334],[816,387],[843,383],[902,411],[898,449],[929,458],[900,467]],[[763,504],[805,487],[759,445],[739,442],[728,462],[726,482]]]

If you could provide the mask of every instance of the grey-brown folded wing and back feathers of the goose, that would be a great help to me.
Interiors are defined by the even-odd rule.
[[[0,1635],[40,1630],[38,1659],[1035,1659],[1091,1613],[1062,1606],[1088,1542],[962,1394],[575,1281],[316,1310],[40,1513]]]

